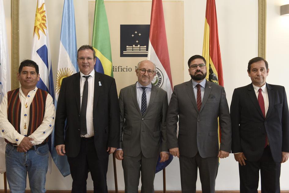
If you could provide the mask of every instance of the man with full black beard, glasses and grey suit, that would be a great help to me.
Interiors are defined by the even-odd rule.
[[[218,158],[231,152],[232,129],[224,87],[206,80],[206,60],[188,61],[191,80],[174,87],[167,114],[170,154],[180,158],[182,192],[196,192],[199,169],[203,193],[215,192]],[[222,132],[219,143],[218,118]],[[177,122],[179,135],[177,138]]]

